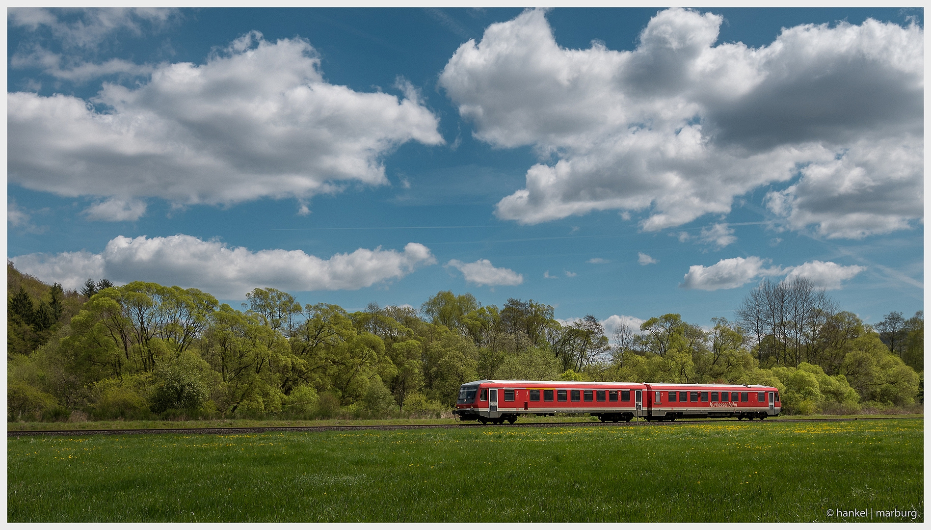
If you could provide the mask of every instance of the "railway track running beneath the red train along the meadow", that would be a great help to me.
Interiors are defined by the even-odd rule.
[[[803,423],[816,421],[857,421],[857,420],[896,420],[918,419],[914,417],[867,417],[867,418],[800,418],[800,419],[768,419],[766,423]],[[7,438],[20,436],[88,436],[93,434],[261,434],[264,432],[317,432],[324,430],[401,430],[412,428],[525,428],[525,427],[578,427],[578,426],[614,426],[614,427],[657,427],[657,426],[687,426],[708,423],[743,422],[737,419],[692,419],[675,422],[647,422],[631,421],[629,423],[598,423],[592,421],[564,422],[564,423],[515,423],[513,425],[482,425],[480,423],[463,422],[443,425],[335,425],[318,427],[217,427],[217,428],[108,428],[88,430],[9,430]],[[750,421],[750,420],[746,420]],[[753,423],[762,423],[760,421]]]

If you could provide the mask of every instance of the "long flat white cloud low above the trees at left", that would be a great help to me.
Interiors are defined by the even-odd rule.
[[[183,234],[168,238],[111,239],[100,254],[88,251],[26,254],[12,258],[21,271],[76,289],[88,278],[134,280],[196,287],[221,298],[240,299],[256,287],[285,291],[357,290],[400,279],[436,263],[424,245],[403,251],[358,249],[329,259],[304,251],[250,251]]]

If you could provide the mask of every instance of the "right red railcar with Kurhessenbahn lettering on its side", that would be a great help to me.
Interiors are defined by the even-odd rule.
[[[779,415],[779,389],[760,385],[677,385],[647,383],[648,421],[676,418],[766,418]]]

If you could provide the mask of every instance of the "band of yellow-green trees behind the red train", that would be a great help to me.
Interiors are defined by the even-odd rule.
[[[438,292],[419,308],[349,313],[256,288],[207,292],[88,279],[65,291],[7,262],[7,420],[385,418],[449,414],[478,379],[747,383],[784,414],[918,411],[924,316],[876,325],[808,280],[764,280],[735,320],[676,313],[607,336],[534,300],[482,306]]]

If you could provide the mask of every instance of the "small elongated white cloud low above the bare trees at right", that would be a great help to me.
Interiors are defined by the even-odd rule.
[[[715,265],[692,265],[679,285],[685,289],[717,291],[735,289],[754,279],[785,276],[785,281],[794,278],[810,279],[816,287],[826,290],[841,288],[841,282],[852,279],[866,267],[860,265],[838,265],[834,262],[811,261],[789,267],[766,267],[771,260],[757,256],[723,259]]]

